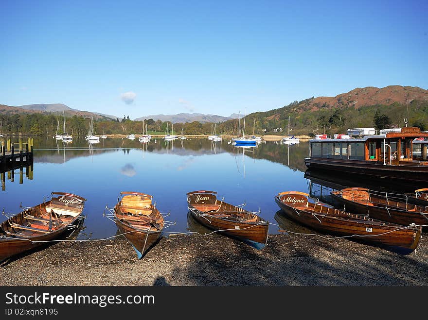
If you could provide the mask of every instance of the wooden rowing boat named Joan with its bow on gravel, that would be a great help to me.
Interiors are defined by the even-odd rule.
[[[255,213],[217,199],[217,192],[199,190],[187,193],[189,213],[211,230],[245,241],[257,243],[262,249],[267,243],[269,222]]]

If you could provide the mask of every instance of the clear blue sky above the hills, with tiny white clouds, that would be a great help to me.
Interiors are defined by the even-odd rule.
[[[0,104],[229,116],[428,88],[428,1],[0,1]]]

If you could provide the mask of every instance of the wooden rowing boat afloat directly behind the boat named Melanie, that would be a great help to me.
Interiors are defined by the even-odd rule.
[[[428,205],[405,202],[366,188],[345,188],[331,195],[336,206],[357,214],[401,225],[428,224]]]

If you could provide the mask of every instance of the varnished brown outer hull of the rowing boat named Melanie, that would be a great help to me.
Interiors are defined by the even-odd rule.
[[[383,246],[401,254],[413,252],[421,237],[420,227],[371,224],[370,219],[367,219],[367,222],[361,219],[338,219],[321,213],[314,215],[285,205],[278,197],[275,197],[275,202],[287,218],[312,230],[337,236],[353,236],[354,240]]]

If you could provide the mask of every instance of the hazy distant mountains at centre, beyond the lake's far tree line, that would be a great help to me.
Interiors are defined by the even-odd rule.
[[[237,119],[238,116],[240,118],[243,118],[244,115],[238,115],[236,113],[233,113],[230,117],[222,117],[222,116],[216,116],[216,115],[205,115],[202,113],[179,113],[177,115],[151,115],[141,118],[134,119],[135,121],[143,121],[143,119],[153,119],[153,120],[160,120],[162,122],[164,121],[170,121],[172,123],[186,123],[186,122],[193,122],[193,121],[199,121],[201,123],[205,122],[224,122],[231,119]]]

